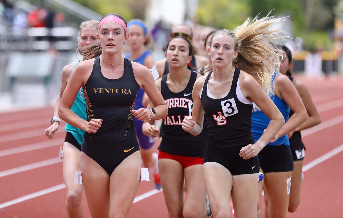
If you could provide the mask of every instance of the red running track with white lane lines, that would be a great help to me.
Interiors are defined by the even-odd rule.
[[[298,78],[309,88],[322,123],[302,133],[306,181],[300,206],[289,217],[343,217],[343,79]],[[0,113],[0,217],[67,217],[57,158],[64,123],[48,140],[44,130],[51,115],[51,107]],[[82,206],[90,217],[84,194]],[[129,217],[167,217],[163,194],[153,182],[140,183]]]

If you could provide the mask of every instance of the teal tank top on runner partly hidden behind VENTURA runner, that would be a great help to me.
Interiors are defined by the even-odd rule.
[[[76,63],[74,66],[75,67],[78,65],[79,63]],[[79,90],[78,95],[75,98],[74,104],[71,107],[71,110],[79,117],[81,117],[84,120],[87,120],[87,116],[86,116],[86,101],[85,101],[85,97],[83,95],[83,89],[82,87]],[[67,132],[70,132],[74,138],[76,139],[76,141],[80,144],[80,146],[82,145],[82,141],[83,141],[83,136],[85,134],[85,131],[80,130],[72,125],[70,125],[69,123],[66,124],[66,126],[64,126],[64,130],[66,130]]]

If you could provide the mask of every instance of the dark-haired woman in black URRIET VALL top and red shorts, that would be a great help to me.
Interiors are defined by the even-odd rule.
[[[162,123],[158,167],[169,217],[203,218],[207,215],[203,177],[207,131],[204,129],[198,136],[192,136],[183,131],[181,126],[184,117],[191,116],[193,85],[201,77],[197,72],[187,69],[192,52],[192,45],[185,37],[171,39],[165,54],[169,74],[156,81],[168,108],[168,116]],[[143,132],[151,137],[159,136],[159,128],[149,120],[144,122]],[[184,178],[187,186],[185,203]]]

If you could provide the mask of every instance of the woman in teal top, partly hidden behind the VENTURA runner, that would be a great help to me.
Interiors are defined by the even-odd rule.
[[[96,36],[98,32],[99,22],[84,21],[80,25],[78,42],[80,48],[98,42]],[[68,64],[62,70],[62,84],[59,96],[56,99],[54,108],[54,117],[51,120],[51,125],[45,130],[48,138],[53,138],[55,132],[58,130],[60,119],[58,117],[58,107],[60,105],[61,97],[68,84],[71,72],[76,64]],[[76,96],[71,110],[80,118],[86,120],[86,101],[84,100],[83,90],[80,88],[79,94]],[[66,124],[64,129],[67,131],[66,139],[63,143],[63,179],[67,190],[67,213],[69,217],[83,217],[83,210],[81,206],[82,185],[74,183],[75,170],[79,170],[79,157],[81,151],[81,144],[83,141],[84,130],[75,128],[70,124]]]

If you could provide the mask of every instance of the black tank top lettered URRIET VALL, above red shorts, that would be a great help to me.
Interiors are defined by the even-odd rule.
[[[182,129],[182,120],[192,114],[192,90],[197,80],[197,72],[192,71],[186,88],[179,93],[171,92],[167,85],[167,76],[162,77],[161,94],[168,108],[168,116],[162,122],[162,142],[159,150],[169,154],[187,157],[204,157],[207,130],[193,136]]]

